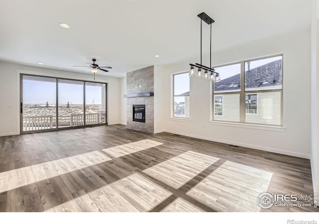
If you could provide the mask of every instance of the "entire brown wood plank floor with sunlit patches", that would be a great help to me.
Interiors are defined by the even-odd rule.
[[[0,137],[1,212],[313,212],[310,161],[123,125]]]

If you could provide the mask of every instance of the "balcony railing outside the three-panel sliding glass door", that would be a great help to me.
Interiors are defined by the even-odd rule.
[[[85,114],[86,125],[105,123],[106,113],[101,111],[94,114]],[[69,116],[59,116],[59,127],[74,127],[84,125],[83,114],[71,114]],[[44,130],[57,127],[56,117],[46,116],[23,116],[23,131]]]

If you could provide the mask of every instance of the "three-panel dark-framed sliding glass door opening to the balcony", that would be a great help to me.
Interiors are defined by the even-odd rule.
[[[20,75],[22,133],[107,124],[106,83]]]

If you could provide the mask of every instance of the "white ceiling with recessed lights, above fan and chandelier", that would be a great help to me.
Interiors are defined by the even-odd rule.
[[[215,20],[216,51],[310,29],[312,0],[0,0],[0,60],[85,72],[72,65],[95,57],[113,67],[109,76],[124,77],[199,56],[197,14],[203,11]],[[203,23],[203,53],[209,53],[208,38]]]

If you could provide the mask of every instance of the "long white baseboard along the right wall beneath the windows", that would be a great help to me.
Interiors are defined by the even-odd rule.
[[[175,132],[175,131],[169,131],[169,130],[163,130],[160,132],[167,132],[167,133],[171,133],[171,134],[183,135],[183,136],[187,136],[187,137],[198,138],[198,139],[214,141],[214,142],[220,142],[220,143],[225,143],[225,144],[229,144],[229,145],[242,146],[242,147],[262,150],[262,151],[266,151],[266,152],[279,153],[279,154],[283,154],[283,155],[287,155],[287,156],[295,156],[295,157],[300,157],[300,158],[304,158],[304,159],[310,159],[310,155],[308,155],[308,154],[289,152],[289,151],[281,150],[281,149],[273,149],[273,148],[268,148],[268,147],[263,147],[263,146],[250,145],[250,144],[245,144],[245,143],[241,143],[241,142],[233,142],[233,141],[203,137],[203,136]],[[157,133],[159,133],[159,132],[157,132]]]

